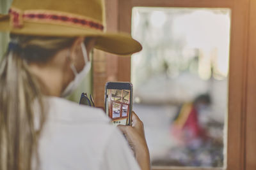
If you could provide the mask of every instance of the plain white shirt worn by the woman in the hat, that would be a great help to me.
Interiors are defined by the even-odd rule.
[[[59,97],[47,101],[38,146],[40,169],[140,169],[123,134],[102,110]]]

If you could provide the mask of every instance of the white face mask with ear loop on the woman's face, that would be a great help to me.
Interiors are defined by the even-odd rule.
[[[77,73],[76,71],[76,67],[74,66],[74,63],[70,64],[70,67],[73,71],[73,73],[75,74],[75,78],[73,81],[71,81],[66,89],[61,93],[61,97],[67,97],[68,95],[70,95],[72,92],[74,92],[74,90],[76,90],[76,88],[78,87],[78,85],[81,83],[81,81],[83,80],[84,76],[86,76],[86,74],[90,71],[91,69],[91,62],[88,61],[88,57],[87,57],[87,52],[86,52],[86,47],[84,45],[84,43],[81,43],[81,48],[82,48],[82,52],[83,52],[83,56],[84,56],[84,62],[85,65],[83,67],[83,70],[80,71],[79,73]]]

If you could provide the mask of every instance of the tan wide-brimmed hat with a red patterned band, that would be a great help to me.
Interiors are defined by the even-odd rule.
[[[105,32],[101,0],[13,0],[8,15],[0,14],[0,31],[36,36],[92,36],[95,48],[118,55],[141,50],[124,33]]]

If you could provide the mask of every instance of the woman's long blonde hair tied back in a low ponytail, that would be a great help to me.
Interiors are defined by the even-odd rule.
[[[0,64],[0,170],[30,170],[38,155],[38,139],[46,120],[44,86],[29,71],[29,63],[47,63],[73,42],[74,38],[11,34],[10,48]],[[39,117],[33,109],[35,100]]]

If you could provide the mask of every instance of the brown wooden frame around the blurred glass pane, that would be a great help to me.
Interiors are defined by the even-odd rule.
[[[134,6],[230,8],[230,69],[228,85],[228,170],[256,169],[256,1],[253,0],[107,0],[107,30],[131,33]],[[131,81],[131,58],[104,55],[105,81]],[[106,56],[107,55],[107,56]],[[102,58],[103,59],[103,58]],[[97,76],[97,75],[95,75]],[[97,77],[95,77],[95,80]],[[97,89],[97,85],[94,85]],[[100,94],[98,96],[104,96]],[[102,101],[100,98],[98,101]],[[153,169],[205,169],[200,167],[153,167]]]

